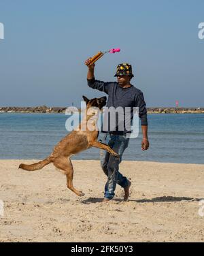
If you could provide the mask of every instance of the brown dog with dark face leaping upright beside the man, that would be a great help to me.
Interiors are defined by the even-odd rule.
[[[112,150],[106,144],[97,141],[99,131],[97,129],[97,118],[99,116],[99,110],[106,104],[106,97],[99,99],[87,99],[83,96],[86,101],[86,115],[80,125],[69,133],[61,142],[54,147],[52,154],[38,163],[31,165],[25,165],[21,163],[19,168],[27,171],[40,170],[45,165],[53,163],[55,167],[62,170],[67,176],[67,187],[79,196],[84,195],[82,191],[78,191],[73,187],[73,166],[71,163],[71,155],[80,153],[92,146],[107,150],[110,154],[118,157],[118,154]],[[84,129],[85,127],[85,129]]]

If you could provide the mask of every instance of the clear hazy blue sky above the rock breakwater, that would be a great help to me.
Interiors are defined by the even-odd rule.
[[[114,81],[116,65],[131,63],[132,84],[148,107],[204,106],[204,1],[0,0],[0,106],[80,106],[84,61],[99,50],[121,48],[97,62],[95,76]]]

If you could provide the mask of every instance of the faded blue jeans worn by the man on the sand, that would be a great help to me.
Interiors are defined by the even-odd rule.
[[[119,164],[122,161],[122,154],[129,145],[129,138],[126,135],[114,135],[112,133],[105,133],[102,140],[103,143],[109,145],[120,157],[114,157],[107,153],[106,150],[101,150],[101,167],[103,172],[107,176],[107,182],[105,184],[104,196],[108,199],[112,199],[115,195],[116,184],[121,187],[127,187],[129,185],[126,177],[122,176],[119,172]]]

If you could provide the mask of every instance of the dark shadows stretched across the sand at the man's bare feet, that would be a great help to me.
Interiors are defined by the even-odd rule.
[[[163,197],[154,197],[152,199],[129,199],[129,202],[137,202],[137,203],[154,203],[154,202],[182,202],[182,201],[186,201],[186,202],[190,202],[190,201],[200,201],[203,198],[194,198],[194,197],[173,197],[173,196],[163,196]],[[101,203],[103,201],[103,198],[98,198],[98,197],[89,197],[86,200],[83,200],[82,203],[83,204],[95,204],[95,203]],[[113,199],[113,201],[116,202],[123,202],[122,199]]]

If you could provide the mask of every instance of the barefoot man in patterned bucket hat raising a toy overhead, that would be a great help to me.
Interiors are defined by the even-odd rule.
[[[91,59],[91,58],[90,58]],[[109,95],[107,100],[107,108],[114,107],[131,107],[131,114],[125,116],[125,119],[133,119],[133,107],[139,108],[139,118],[141,119],[141,130],[143,133],[143,140],[141,142],[141,150],[149,148],[148,142],[148,120],[146,103],[143,99],[143,93],[131,84],[133,78],[132,67],[128,63],[118,65],[115,76],[118,82],[103,82],[95,80],[95,64],[90,64],[90,59],[85,61],[88,66],[88,86],[92,89],[103,91]],[[111,123],[111,118],[107,117],[107,123]],[[116,120],[117,122],[117,120]],[[103,121],[104,123],[104,121]],[[124,188],[124,201],[129,199],[129,189],[131,182],[119,172],[119,164],[122,161],[122,154],[129,144],[129,132],[124,125],[124,129],[118,129],[119,124],[116,124],[116,129],[112,129],[108,124],[106,129],[102,129],[105,133],[103,143],[108,144],[120,158],[109,155],[104,151],[101,153],[101,167],[107,176],[105,184],[105,193],[103,202],[108,202],[113,199],[116,189],[116,184]]]

